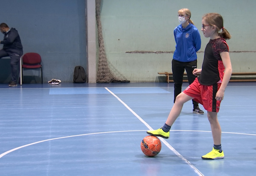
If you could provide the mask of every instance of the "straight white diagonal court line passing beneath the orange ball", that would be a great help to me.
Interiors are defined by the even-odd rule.
[[[132,114],[134,116],[136,116],[143,124],[145,124],[149,130],[153,130],[153,128],[151,126],[149,126],[149,124],[147,124],[138,114],[136,114],[128,105],[126,105],[124,103],[124,101],[122,101],[119,97],[117,97],[113,92],[111,92],[107,87],[105,87],[105,89],[107,89],[108,92],[110,92],[114,97],[116,97],[117,100],[119,100],[129,111],[132,112]],[[170,148],[170,150],[177,155],[179,158],[181,158],[183,161],[185,161],[185,163],[187,163],[193,170],[194,172],[196,172],[197,175],[201,175],[204,176],[204,174],[202,172],[200,172],[194,165],[192,165],[186,158],[184,158],[182,155],[180,155],[180,153],[175,150],[168,142],[166,142],[166,140],[164,140],[163,138],[160,138],[160,140],[168,147]]]

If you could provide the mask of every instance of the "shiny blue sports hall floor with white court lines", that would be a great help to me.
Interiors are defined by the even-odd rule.
[[[161,152],[142,153],[146,131],[160,128],[172,108],[173,83],[0,84],[0,103],[0,176],[256,174],[255,82],[228,84],[218,114],[220,160],[201,159],[212,134],[192,101],[161,139]]]

